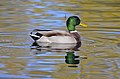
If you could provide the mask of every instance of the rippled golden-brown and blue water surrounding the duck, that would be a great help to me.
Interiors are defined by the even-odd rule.
[[[31,49],[35,29],[62,29],[65,16],[78,15],[79,64],[68,51]],[[87,59],[84,59],[87,57]],[[0,0],[0,79],[120,79],[119,0]]]

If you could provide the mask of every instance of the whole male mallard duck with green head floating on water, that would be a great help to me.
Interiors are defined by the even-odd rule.
[[[80,23],[81,20],[77,16],[70,16],[66,21],[68,32],[62,30],[39,30],[35,29],[30,33],[30,36],[35,42],[46,43],[81,43],[80,35],[75,26],[86,25]]]

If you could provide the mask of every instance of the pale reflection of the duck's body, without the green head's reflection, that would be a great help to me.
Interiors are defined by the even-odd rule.
[[[32,49],[37,49],[37,50],[48,50],[49,51],[66,51],[66,50],[74,50],[78,51],[81,46],[80,43],[76,44],[58,44],[58,43],[37,43],[34,42],[31,46]]]

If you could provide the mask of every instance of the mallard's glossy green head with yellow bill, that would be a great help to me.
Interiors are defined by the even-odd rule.
[[[70,16],[67,19],[66,26],[67,26],[68,31],[75,31],[76,30],[75,26],[77,26],[77,25],[81,25],[83,27],[86,27],[85,24],[81,23],[81,20],[78,16]]]

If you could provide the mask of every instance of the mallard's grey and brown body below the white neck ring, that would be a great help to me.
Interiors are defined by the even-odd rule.
[[[61,30],[38,30],[35,29],[30,36],[36,42],[46,43],[79,43],[80,35],[77,31],[66,32]]]

